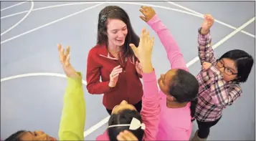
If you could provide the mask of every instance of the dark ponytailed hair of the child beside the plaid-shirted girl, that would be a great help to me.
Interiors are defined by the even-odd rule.
[[[199,91],[199,83],[189,72],[184,69],[178,69],[171,79],[169,94],[175,97],[176,102],[191,102],[190,110],[193,118],[196,112],[197,94]],[[193,122],[194,119],[191,120]]]

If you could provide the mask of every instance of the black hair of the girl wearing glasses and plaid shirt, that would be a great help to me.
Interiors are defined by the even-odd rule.
[[[219,58],[219,60],[224,58],[232,59],[236,64],[237,79],[234,81],[246,82],[254,63],[252,56],[243,50],[234,49],[224,53],[222,57]]]

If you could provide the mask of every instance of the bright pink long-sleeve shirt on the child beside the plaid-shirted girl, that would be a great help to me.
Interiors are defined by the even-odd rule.
[[[183,55],[172,37],[169,29],[155,15],[148,25],[156,31],[163,47],[166,49],[171,69],[184,69],[189,72]],[[161,113],[156,140],[189,140],[192,130],[189,102],[186,107],[169,108],[166,106],[166,94],[159,92],[161,97]]]

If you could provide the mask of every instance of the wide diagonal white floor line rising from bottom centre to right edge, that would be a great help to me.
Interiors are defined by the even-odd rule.
[[[237,34],[237,32],[241,31],[242,29],[244,29],[247,25],[251,24],[253,21],[255,21],[255,17],[253,17],[252,19],[250,19],[250,21],[247,21],[245,24],[243,24],[242,26],[240,26],[239,28],[235,29],[234,31],[232,31],[230,34],[228,34],[226,37],[224,37],[223,39],[221,39],[219,42],[217,42],[216,44],[214,44],[212,46],[213,49],[216,49],[217,47],[219,47],[219,45],[223,44],[224,42],[227,41],[227,39],[231,38],[234,36],[234,34]],[[187,67],[190,67],[192,64],[196,63],[199,60],[199,57],[195,57],[194,59],[192,59],[190,62],[188,62],[186,64]],[[94,132],[95,130],[98,130],[98,128],[100,128],[101,126],[105,125],[105,123],[108,122],[110,116],[105,117],[105,119],[101,120],[100,122],[98,122],[96,125],[93,125],[93,127],[90,127],[88,130],[85,130],[84,132],[84,137],[86,137],[87,135],[90,135],[90,133]]]

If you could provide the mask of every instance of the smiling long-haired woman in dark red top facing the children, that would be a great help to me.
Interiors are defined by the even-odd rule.
[[[123,100],[141,111],[143,87],[138,59],[129,44],[138,47],[128,14],[119,6],[106,6],[98,19],[98,39],[87,58],[87,90],[104,94],[103,104],[111,115]],[[100,82],[101,77],[101,82]]]

